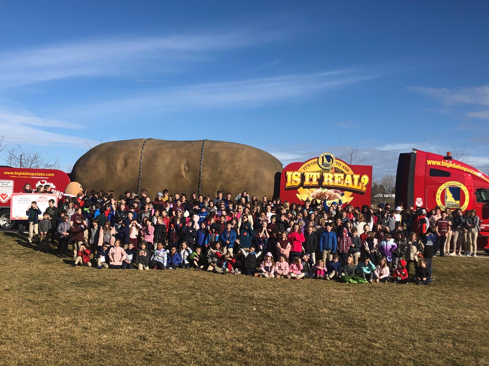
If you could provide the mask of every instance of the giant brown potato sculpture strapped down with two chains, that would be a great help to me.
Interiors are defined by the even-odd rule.
[[[73,166],[70,179],[95,190],[136,192],[141,148],[145,139],[105,142],[85,153]],[[141,166],[140,189],[148,195],[197,192],[202,140],[147,140]],[[260,198],[277,192],[282,164],[267,152],[241,143],[205,140],[201,193],[214,198],[218,189],[236,194],[246,190]],[[276,173],[278,173],[276,175]],[[280,179],[280,178],[279,178]]]

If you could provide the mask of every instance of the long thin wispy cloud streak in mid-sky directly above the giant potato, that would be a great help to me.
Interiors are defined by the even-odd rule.
[[[104,114],[144,109],[147,111],[182,108],[253,108],[266,103],[307,97],[343,85],[370,80],[356,70],[334,70],[313,74],[293,74],[274,78],[250,79],[174,88],[153,89],[117,101],[83,107],[80,113]],[[78,113],[78,112],[77,112]]]

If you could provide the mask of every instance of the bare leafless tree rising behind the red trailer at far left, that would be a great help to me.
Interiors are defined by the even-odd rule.
[[[8,145],[5,148],[6,165],[34,168],[34,169],[58,169],[59,159],[52,158],[47,151],[25,149],[21,145]]]

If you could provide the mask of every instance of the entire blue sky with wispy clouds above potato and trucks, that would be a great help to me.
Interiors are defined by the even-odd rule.
[[[0,135],[68,169],[87,145],[240,142],[284,166],[359,142],[489,170],[487,1],[0,2]]]

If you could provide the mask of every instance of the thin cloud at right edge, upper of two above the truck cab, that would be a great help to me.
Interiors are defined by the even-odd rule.
[[[438,99],[446,105],[489,105],[489,85],[459,87],[455,89],[411,86],[409,89]]]

